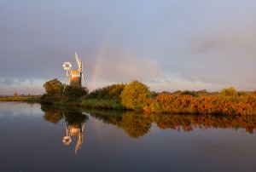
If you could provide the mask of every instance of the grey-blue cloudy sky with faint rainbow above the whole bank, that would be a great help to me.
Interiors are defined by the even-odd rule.
[[[256,90],[256,1],[0,0],[0,95],[44,94],[75,52],[90,91]]]

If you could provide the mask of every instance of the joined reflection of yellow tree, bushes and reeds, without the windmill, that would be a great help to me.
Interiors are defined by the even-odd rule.
[[[160,129],[175,129],[185,132],[196,129],[245,129],[253,134],[256,129],[255,116],[213,116],[213,115],[178,115],[178,114],[144,114],[137,112],[113,112],[86,110],[90,116],[124,129],[125,132],[137,138],[146,135],[152,123]]]

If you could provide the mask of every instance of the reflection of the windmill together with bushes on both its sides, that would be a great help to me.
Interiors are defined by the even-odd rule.
[[[41,106],[41,109],[45,112],[44,119],[50,123],[56,124],[64,119],[66,135],[63,136],[62,142],[68,146],[73,141],[72,137],[77,137],[75,146],[75,154],[77,154],[83,145],[84,125],[88,115],[77,109],[61,109],[53,106]]]

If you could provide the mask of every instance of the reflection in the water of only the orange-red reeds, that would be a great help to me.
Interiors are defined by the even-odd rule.
[[[235,128],[246,129],[253,134],[256,129],[255,116],[213,116],[213,115],[168,115],[157,114],[152,116],[160,129],[176,129],[180,131],[192,131],[194,128]]]

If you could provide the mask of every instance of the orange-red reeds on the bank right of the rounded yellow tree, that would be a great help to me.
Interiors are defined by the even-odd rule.
[[[256,114],[256,97],[207,95],[158,95],[155,100],[147,99],[143,111],[158,113],[196,113],[249,115]]]

